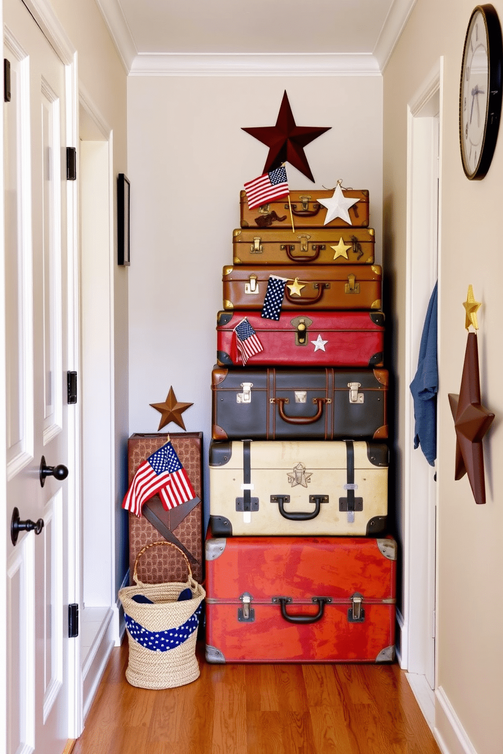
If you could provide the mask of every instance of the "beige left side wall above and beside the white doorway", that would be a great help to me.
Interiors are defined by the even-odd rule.
[[[103,17],[94,0],[51,0],[78,58],[79,92],[89,98],[100,118],[112,129],[113,187],[116,207],[115,178],[127,173],[127,114],[124,67],[115,50]],[[114,210],[114,217],[116,210]],[[114,259],[117,259],[117,235],[114,229]],[[127,269],[114,265],[112,302],[115,320],[113,369],[115,373],[115,574],[121,585],[127,571],[124,547],[127,541],[127,516],[121,511],[124,485],[127,484]]]

